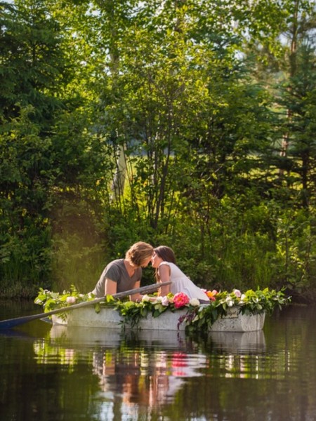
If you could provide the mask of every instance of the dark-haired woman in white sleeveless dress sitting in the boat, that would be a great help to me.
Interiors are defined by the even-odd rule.
[[[161,288],[160,295],[185,293],[190,299],[197,298],[201,304],[209,303],[209,298],[204,291],[178,268],[172,248],[167,246],[154,248],[152,267],[156,269],[157,282],[172,282]]]

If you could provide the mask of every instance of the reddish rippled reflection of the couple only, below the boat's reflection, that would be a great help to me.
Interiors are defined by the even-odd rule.
[[[114,356],[108,352],[94,353],[93,372],[100,378],[103,396],[119,394],[127,405],[137,403],[157,408],[173,401],[187,377],[201,375],[205,356],[187,356],[181,352],[130,352]]]

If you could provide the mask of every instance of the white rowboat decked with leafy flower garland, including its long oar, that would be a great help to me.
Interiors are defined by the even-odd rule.
[[[282,290],[268,288],[247,290],[243,294],[237,289],[232,293],[206,291],[209,304],[201,304],[197,298],[190,299],[185,293],[165,297],[147,295],[169,283],[156,283],[100,298],[79,294],[75,289],[60,295],[40,288],[34,302],[43,305],[45,312],[0,321],[0,329],[49,316],[54,325],[82,328],[124,326],[131,330],[256,332],[263,330],[265,314],[271,314],[275,307],[281,308],[291,300]],[[135,293],[143,294],[140,302],[121,300]],[[46,307],[47,303],[49,307]]]

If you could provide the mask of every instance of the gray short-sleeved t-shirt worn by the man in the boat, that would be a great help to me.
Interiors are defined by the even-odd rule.
[[[92,291],[97,298],[105,295],[105,279],[111,279],[117,283],[117,293],[133,289],[135,283],[142,277],[142,268],[138,267],[133,276],[129,276],[124,265],[124,259],[117,259],[110,262],[102,272],[96,287]]]

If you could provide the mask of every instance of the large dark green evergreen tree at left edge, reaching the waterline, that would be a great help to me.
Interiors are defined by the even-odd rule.
[[[86,105],[79,83],[74,90],[82,78],[70,60],[65,20],[53,17],[49,2],[1,7],[0,271],[22,294],[27,283],[49,283],[65,237],[77,236],[77,248],[92,244],[94,253],[107,148],[91,123],[93,104]]]

